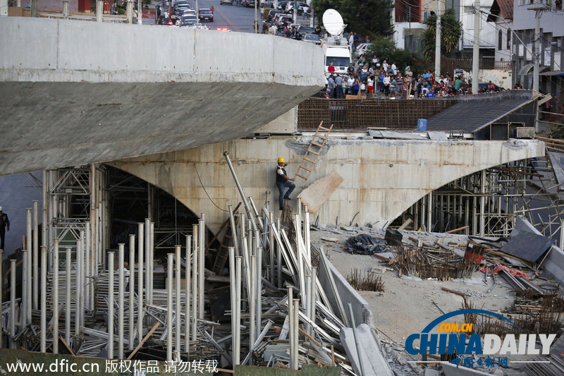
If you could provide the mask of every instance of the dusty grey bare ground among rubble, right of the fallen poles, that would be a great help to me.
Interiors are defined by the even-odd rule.
[[[387,262],[372,255],[351,254],[345,241],[351,236],[369,234],[376,238],[384,238],[384,230],[354,226],[320,226],[319,231],[311,231],[312,244],[316,248],[323,248],[329,260],[335,265],[343,277],[348,278],[353,269],[360,269],[363,273],[374,267],[386,266]],[[429,234],[420,231],[403,231],[404,239],[422,238],[424,241],[465,242],[465,236],[454,234]],[[331,239],[331,241],[323,240]],[[453,279],[438,281],[436,279],[419,279],[412,276],[398,277],[398,271],[389,267],[383,274],[378,274],[384,281],[384,292],[358,291],[360,296],[369,303],[374,315],[372,326],[382,339],[382,349],[387,356],[392,369],[398,375],[423,373],[422,365],[408,363],[410,360],[422,360],[420,356],[410,356],[403,348],[407,336],[420,333],[429,322],[443,315],[462,309],[462,296],[441,290],[442,287],[467,294],[475,308],[501,312],[513,304],[515,293],[501,276],[496,277],[496,286],[487,292],[494,284],[488,277],[484,283],[484,273],[475,272],[471,279]],[[436,303],[436,305],[435,305]],[[439,307],[437,307],[437,305]],[[464,321],[463,316],[453,317],[448,322]],[[522,360],[528,356],[520,357]],[[432,359],[429,359],[432,360]],[[483,370],[483,369],[482,369]],[[497,372],[496,372],[497,371]],[[515,368],[493,368],[489,372],[503,375],[523,375],[522,366]],[[503,373],[500,373],[503,372]]]

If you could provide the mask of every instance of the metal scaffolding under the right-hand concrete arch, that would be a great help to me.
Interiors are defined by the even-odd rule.
[[[424,195],[394,224],[409,218],[414,229],[498,237],[509,236],[517,217],[525,217],[558,240],[564,200],[557,188],[548,158],[522,159],[451,181]]]

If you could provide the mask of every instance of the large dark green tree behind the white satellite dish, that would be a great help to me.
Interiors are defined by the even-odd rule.
[[[360,34],[361,40],[366,35],[392,35],[391,0],[313,0],[315,13],[321,15],[333,8],[343,16],[343,21],[350,32]]]

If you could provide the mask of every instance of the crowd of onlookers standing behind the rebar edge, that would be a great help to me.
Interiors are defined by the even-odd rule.
[[[395,62],[380,61],[376,56],[372,59],[361,56],[355,63],[350,63],[346,73],[335,73],[332,65],[326,73],[326,97],[329,98],[360,95],[410,99],[472,94],[472,80],[463,75],[445,73],[437,78],[430,70],[415,74],[410,66],[400,69]],[[499,91],[504,91],[503,87],[489,81],[480,86],[478,93]]]

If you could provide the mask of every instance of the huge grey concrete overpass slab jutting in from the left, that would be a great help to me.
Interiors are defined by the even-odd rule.
[[[240,138],[324,85],[309,43],[0,18],[0,175]]]

